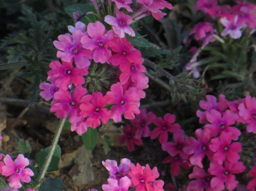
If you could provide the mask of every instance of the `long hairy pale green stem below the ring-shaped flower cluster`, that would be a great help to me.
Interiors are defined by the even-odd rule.
[[[56,134],[55,134],[55,136],[53,138],[53,141],[51,143],[51,147],[50,147],[48,156],[46,157],[46,161],[43,164],[43,169],[42,169],[42,172],[41,172],[40,177],[39,177],[39,182],[41,182],[43,180],[43,177],[44,177],[44,175],[45,175],[45,173],[46,173],[46,171],[47,171],[47,169],[48,169],[48,167],[50,165],[53,153],[55,151],[56,145],[57,145],[58,140],[59,140],[59,136],[60,136],[61,131],[62,131],[63,127],[64,127],[65,120],[66,120],[66,118],[61,119],[59,124],[58,124],[58,126],[57,126]]]

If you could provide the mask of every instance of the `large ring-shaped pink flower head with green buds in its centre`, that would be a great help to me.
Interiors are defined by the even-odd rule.
[[[117,12],[117,16],[124,14]],[[40,95],[53,98],[50,111],[59,118],[68,115],[71,131],[78,134],[87,127],[106,124],[110,118],[120,122],[122,114],[134,119],[140,112],[140,98],[145,97],[143,89],[148,87],[141,53],[124,35],[121,38],[106,30],[99,21],[89,23],[87,30],[83,23],[69,29],[72,35],[60,35],[54,41],[62,63],[52,61],[50,83],[40,85]],[[110,110],[107,104],[113,104]]]

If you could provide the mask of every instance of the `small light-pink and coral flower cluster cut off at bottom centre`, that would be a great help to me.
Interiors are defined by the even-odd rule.
[[[159,177],[156,167],[151,170],[148,164],[144,167],[137,163],[135,166],[129,159],[122,159],[119,166],[114,160],[102,164],[110,174],[108,184],[102,185],[104,191],[128,191],[129,187],[136,191],[163,191],[164,182],[156,180]]]

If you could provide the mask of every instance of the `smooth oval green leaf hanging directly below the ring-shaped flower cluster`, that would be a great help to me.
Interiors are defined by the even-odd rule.
[[[92,129],[88,127],[87,132],[82,134],[81,137],[85,148],[87,148],[88,150],[92,150],[95,147],[98,140],[98,131],[97,129]]]

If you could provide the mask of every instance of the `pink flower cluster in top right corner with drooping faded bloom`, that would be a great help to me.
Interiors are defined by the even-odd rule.
[[[222,37],[229,35],[232,39],[239,39],[242,34],[250,34],[256,28],[256,5],[244,1],[235,1],[233,6],[229,5],[217,5],[217,0],[197,0],[195,6],[196,10],[202,10],[208,15],[205,21],[197,23],[191,30],[189,35],[183,40],[185,46],[189,46],[194,38],[200,44],[200,47],[204,49],[210,42],[214,42],[216,39],[225,43],[218,34]],[[222,27],[217,23],[221,23]],[[224,28],[224,29],[222,29]],[[220,31],[218,31],[220,29]],[[192,59],[185,65],[184,69],[192,69],[195,78],[199,75],[199,61],[196,60],[199,52],[193,54]]]

